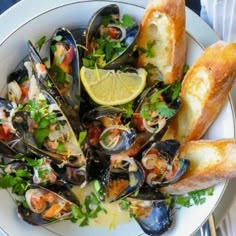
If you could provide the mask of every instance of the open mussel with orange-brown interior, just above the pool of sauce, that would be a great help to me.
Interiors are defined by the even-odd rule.
[[[113,155],[110,167],[99,177],[103,199],[113,202],[138,190],[144,182],[144,170],[133,158]]]

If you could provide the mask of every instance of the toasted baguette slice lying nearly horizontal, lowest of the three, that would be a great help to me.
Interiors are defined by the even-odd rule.
[[[179,157],[190,160],[186,174],[162,187],[163,193],[185,194],[236,177],[236,139],[199,140],[182,144]]]

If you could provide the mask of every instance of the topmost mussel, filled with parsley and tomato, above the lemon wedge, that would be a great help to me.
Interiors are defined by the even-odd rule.
[[[123,16],[129,17],[127,15]],[[125,24],[116,4],[99,9],[90,19],[86,32],[84,66],[117,69],[124,64],[135,64],[132,54],[139,33],[139,25],[129,17]],[[97,57],[100,52],[100,57]]]

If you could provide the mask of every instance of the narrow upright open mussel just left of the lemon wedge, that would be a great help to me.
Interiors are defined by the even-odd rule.
[[[80,58],[72,33],[59,28],[53,34],[50,50],[51,78],[60,94],[73,109],[79,109],[80,97]]]

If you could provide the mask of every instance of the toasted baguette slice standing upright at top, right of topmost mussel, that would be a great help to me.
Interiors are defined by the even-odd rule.
[[[152,64],[157,67],[164,83],[172,83],[182,78],[186,57],[185,1],[151,0],[141,22],[138,47],[147,49],[142,53],[138,65]]]

